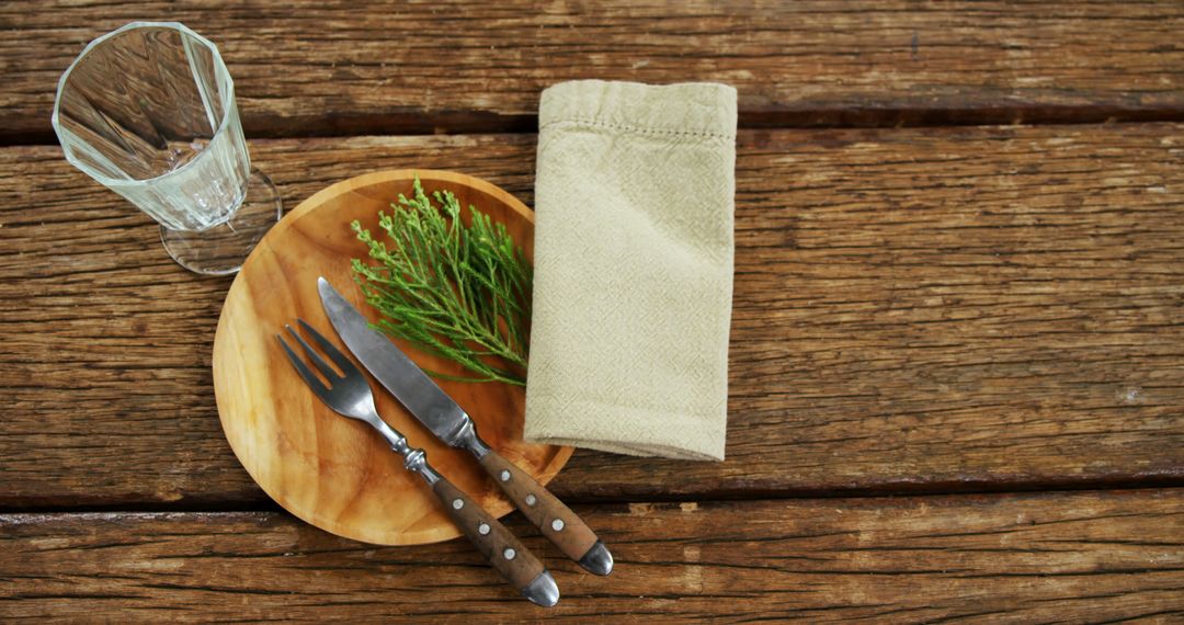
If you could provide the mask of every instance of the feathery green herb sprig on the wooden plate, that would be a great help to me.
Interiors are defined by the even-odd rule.
[[[526,385],[530,320],[530,264],[506,226],[469,206],[470,224],[451,192],[435,192],[433,206],[419,178],[413,198],[399,195],[379,226],[391,246],[361,223],[358,239],[378,264],[353,260],[354,281],[395,339],[458,362],[476,378],[427,372],[463,381]]]

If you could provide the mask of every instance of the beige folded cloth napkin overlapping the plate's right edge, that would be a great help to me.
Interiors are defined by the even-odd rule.
[[[735,89],[542,94],[526,439],[723,459]]]

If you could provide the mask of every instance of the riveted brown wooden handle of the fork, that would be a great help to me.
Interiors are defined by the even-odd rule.
[[[432,490],[452,522],[510,585],[539,605],[552,606],[559,600],[551,573],[510,530],[448,479],[439,478],[432,484]],[[553,589],[553,597],[549,597],[548,588]]]

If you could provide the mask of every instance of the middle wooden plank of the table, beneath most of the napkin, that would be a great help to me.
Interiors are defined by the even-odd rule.
[[[530,136],[252,150],[289,207],[407,166],[532,201]],[[747,131],[738,153],[728,460],[580,451],[555,495],[1184,479],[1184,127]],[[230,281],[173,265],[56,148],[0,150],[0,503],[259,502],[211,387]]]

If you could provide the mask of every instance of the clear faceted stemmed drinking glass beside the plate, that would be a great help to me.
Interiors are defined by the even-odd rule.
[[[91,41],[58,82],[53,129],[75,167],[160,223],[191,271],[238,271],[283,211],[251,168],[218,49],[181,24],[137,21]]]

